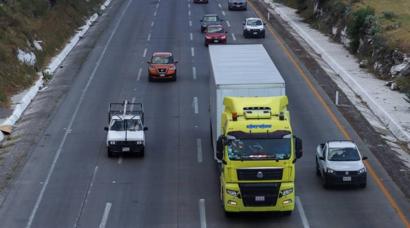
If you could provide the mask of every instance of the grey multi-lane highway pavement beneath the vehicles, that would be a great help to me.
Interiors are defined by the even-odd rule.
[[[291,216],[224,216],[199,22],[209,13],[223,19],[228,44],[263,44],[285,79],[292,127],[304,146]],[[228,11],[222,0],[114,1],[101,17],[107,28],[3,202],[0,227],[405,227],[410,204],[312,75],[300,66],[323,103],[269,30],[263,39],[243,38],[242,22],[254,16],[251,6]],[[176,82],[148,82],[147,60],[162,51],[179,61]],[[123,100],[144,103],[144,158],[107,157],[108,103]],[[318,143],[345,139],[335,119],[369,157],[387,196],[370,174],[366,189],[322,188],[315,151]]]

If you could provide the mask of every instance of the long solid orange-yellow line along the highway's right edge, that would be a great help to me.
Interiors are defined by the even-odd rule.
[[[248,4],[251,6],[251,8],[255,11],[255,13],[263,20],[265,23],[265,18],[262,17],[260,12],[256,10],[256,8],[253,6],[253,4],[248,1]],[[280,47],[283,49],[283,51],[288,55],[288,57],[291,59],[293,65],[295,65],[296,69],[299,71],[299,73],[302,75],[303,79],[308,83],[309,87],[315,93],[316,97],[319,99],[320,103],[322,103],[323,107],[326,109],[327,113],[332,117],[333,121],[335,121],[337,127],[340,129],[342,134],[347,140],[351,140],[351,137],[347,134],[346,130],[344,130],[343,126],[340,124],[339,120],[336,118],[335,114],[330,110],[329,106],[326,105],[324,102],[323,98],[319,95],[319,93],[316,91],[315,87],[312,85],[312,82],[309,80],[308,76],[306,76],[302,69],[299,67],[299,65],[296,63],[295,59],[292,57],[291,53],[285,48],[285,46],[282,44],[276,33],[273,31],[271,28],[271,25],[269,23],[266,23],[266,27],[269,29],[269,31],[272,33],[272,35],[275,37],[277,42],[279,43]],[[376,173],[373,171],[372,167],[370,164],[364,160],[363,161],[364,165],[367,168],[367,171],[372,175],[372,177],[376,180],[377,185],[379,185],[380,190],[383,192],[383,194],[386,196],[387,200],[392,204],[393,208],[396,210],[397,214],[399,215],[400,219],[403,221],[404,225],[406,227],[410,227],[410,223],[407,221],[406,217],[403,215],[401,212],[399,206],[397,205],[396,201],[392,198],[392,196],[387,192],[386,188],[384,187],[383,183],[380,181],[380,178],[376,175]]]

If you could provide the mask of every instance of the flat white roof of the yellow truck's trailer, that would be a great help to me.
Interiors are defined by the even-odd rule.
[[[284,86],[282,76],[261,44],[210,45],[209,53],[216,85]]]

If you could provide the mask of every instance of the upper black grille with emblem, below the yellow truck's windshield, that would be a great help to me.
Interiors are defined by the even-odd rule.
[[[281,180],[283,168],[278,169],[237,169],[238,180]]]

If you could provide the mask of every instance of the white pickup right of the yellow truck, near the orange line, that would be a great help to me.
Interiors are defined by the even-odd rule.
[[[316,175],[322,176],[323,187],[330,184],[359,184],[366,188],[367,170],[353,141],[328,141],[316,151]]]

